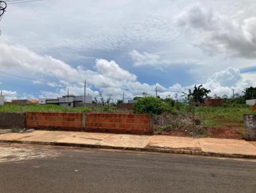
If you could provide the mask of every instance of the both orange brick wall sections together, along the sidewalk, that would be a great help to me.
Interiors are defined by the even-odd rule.
[[[120,134],[153,134],[153,117],[148,114],[102,114],[62,112],[27,112],[26,127]]]

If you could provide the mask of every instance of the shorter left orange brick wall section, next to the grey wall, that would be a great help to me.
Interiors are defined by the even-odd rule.
[[[81,131],[83,125],[82,113],[63,112],[27,112],[26,127],[39,129],[56,129]]]

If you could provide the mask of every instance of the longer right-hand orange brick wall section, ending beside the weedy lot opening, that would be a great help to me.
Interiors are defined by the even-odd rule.
[[[86,114],[86,131],[121,134],[153,134],[153,118],[148,114]]]

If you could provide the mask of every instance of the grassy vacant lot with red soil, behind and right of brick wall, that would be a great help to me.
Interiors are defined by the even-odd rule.
[[[256,114],[247,105],[190,107],[175,105],[172,112],[154,116],[155,134],[243,139],[243,114]],[[75,107],[58,105],[4,105],[0,112],[125,112],[116,107]]]

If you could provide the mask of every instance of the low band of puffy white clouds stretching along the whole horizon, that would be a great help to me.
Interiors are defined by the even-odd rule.
[[[141,95],[143,92],[150,95],[157,93],[165,97],[167,95],[179,96],[182,92],[193,88],[194,84],[181,86],[179,83],[173,84],[169,88],[159,83],[147,84],[139,82],[137,76],[124,70],[115,61],[106,59],[96,59],[94,70],[83,70],[81,66],[72,67],[59,59],[51,56],[40,56],[31,50],[20,46],[10,46],[0,44],[0,67],[5,70],[21,69],[25,74],[23,76],[33,75],[41,77],[44,80],[56,79],[58,82],[53,86],[54,91],[41,90],[38,97],[51,97],[67,95],[67,88],[70,94],[83,95],[84,79],[86,79],[87,93],[91,96],[97,96],[102,93],[104,96],[115,96],[122,98],[133,98],[134,95]],[[33,81],[33,84],[38,83]],[[202,82],[205,88],[211,89],[211,95],[232,95],[232,89],[236,93],[242,93],[243,89],[255,85],[255,83],[244,79],[243,75],[237,68],[228,67],[220,72],[215,72],[207,81]],[[6,93],[8,97],[17,96],[16,92]],[[24,97],[23,97],[24,96]],[[20,97],[32,97],[29,92],[22,93]],[[33,96],[35,97],[35,96]]]

